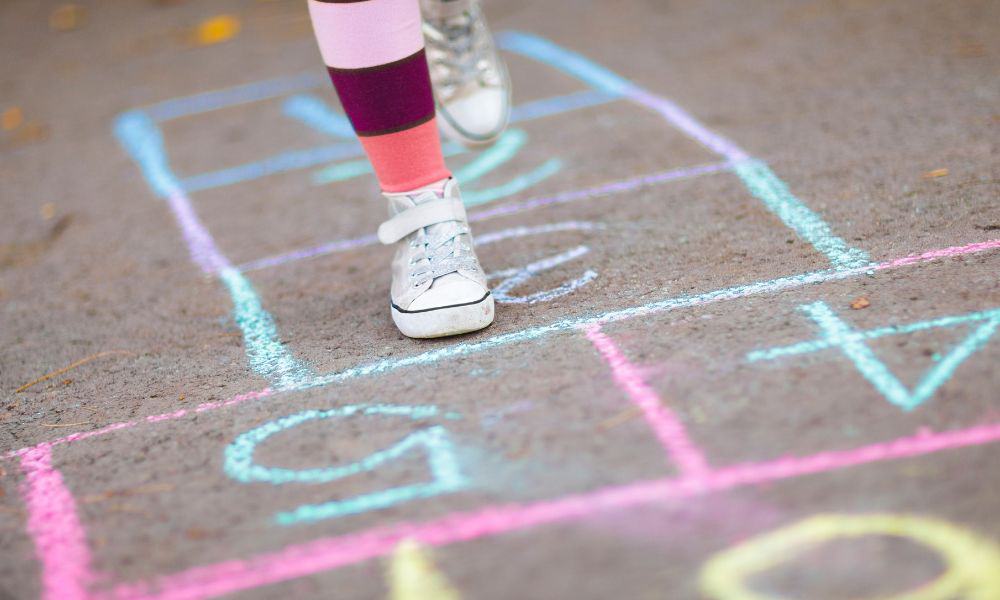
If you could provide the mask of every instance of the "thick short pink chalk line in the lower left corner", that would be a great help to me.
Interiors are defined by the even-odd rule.
[[[39,444],[21,455],[21,496],[28,509],[28,533],[41,563],[42,598],[83,600],[93,581],[87,534],[76,500],[52,467],[52,446]]]

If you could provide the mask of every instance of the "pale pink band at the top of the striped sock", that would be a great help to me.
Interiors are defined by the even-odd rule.
[[[363,69],[383,65],[424,47],[417,0],[309,0],[309,15],[328,67]]]

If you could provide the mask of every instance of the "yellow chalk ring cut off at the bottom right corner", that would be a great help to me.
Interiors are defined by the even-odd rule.
[[[937,519],[892,514],[817,515],[758,536],[709,559],[701,571],[701,589],[719,600],[773,600],[747,589],[747,579],[824,542],[868,535],[923,544],[945,564],[939,578],[891,600],[1000,598],[1000,548],[994,542]]]

